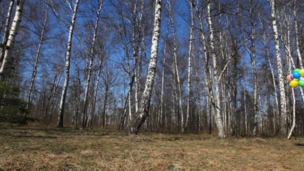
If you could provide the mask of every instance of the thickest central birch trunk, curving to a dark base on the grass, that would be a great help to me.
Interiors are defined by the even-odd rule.
[[[151,56],[145,82],[145,88],[142,93],[140,106],[133,116],[133,119],[127,125],[124,135],[136,134],[148,115],[149,103],[152,94],[154,77],[156,73],[157,50],[158,40],[160,34],[160,13],[161,13],[161,0],[155,0],[154,12],[154,28],[152,33],[151,43]]]

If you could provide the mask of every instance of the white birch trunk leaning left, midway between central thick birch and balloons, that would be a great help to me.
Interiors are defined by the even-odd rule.
[[[208,18],[208,27],[209,27],[209,34],[210,34],[210,47],[211,47],[211,56],[213,62],[213,76],[214,76],[214,108],[215,108],[215,122],[218,129],[218,137],[224,138],[225,133],[223,130],[222,125],[222,116],[221,116],[221,109],[220,109],[220,99],[219,99],[219,85],[218,85],[218,75],[217,75],[217,65],[216,65],[216,55],[214,50],[214,39],[213,39],[213,28],[212,28],[212,19],[211,19],[211,9],[210,9],[210,0],[207,2],[207,18]]]

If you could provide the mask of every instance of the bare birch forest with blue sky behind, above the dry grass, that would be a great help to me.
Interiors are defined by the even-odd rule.
[[[0,0],[0,120],[125,135],[302,135],[304,93],[286,76],[303,68],[303,7]]]

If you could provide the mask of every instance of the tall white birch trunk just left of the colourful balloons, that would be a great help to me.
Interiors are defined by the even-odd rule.
[[[283,68],[281,64],[281,56],[279,49],[278,30],[275,19],[275,0],[268,0],[270,3],[271,20],[272,20],[272,31],[275,44],[275,56],[276,56],[276,67],[278,74],[278,87],[280,97],[280,133],[283,135],[287,134],[287,111],[286,111],[286,93],[284,87]]]

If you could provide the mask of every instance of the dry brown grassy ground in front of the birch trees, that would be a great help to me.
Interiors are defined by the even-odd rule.
[[[302,170],[304,137],[226,138],[207,134],[0,123],[0,170]]]

